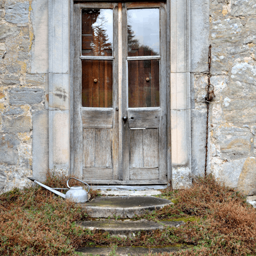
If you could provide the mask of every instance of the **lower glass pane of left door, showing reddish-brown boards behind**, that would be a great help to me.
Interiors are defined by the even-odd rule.
[[[82,106],[113,106],[113,68],[111,60],[82,60]]]

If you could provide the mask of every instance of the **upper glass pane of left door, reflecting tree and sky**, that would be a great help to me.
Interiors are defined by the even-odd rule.
[[[82,10],[82,55],[112,56],[113,10]]]

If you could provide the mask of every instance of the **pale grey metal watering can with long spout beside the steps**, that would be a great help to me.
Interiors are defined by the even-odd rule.
[[[68,186],[69,190],[67,191],[67,193],[65,195],[65,194],[63,194],[63,193],[61,193],[61,192],[59,192],[55,189],[68,189],[68,188],[50,188],[50,187],[36,181],[33,178],[28,177],[28,179],[30,179],[31,181],[34,181],[35,183],[42,186],[43,188],[46,188],[46,189],[50,190],[52,193],[54,193],[58,196],[61,196],[65,199],[70,199],[71,201],[73,201],[75,203],[85,203],[85,202],[88,201],[88,193],[90,191],[90,186],[87,183],[83,182],[82,180],[78,180],[76,178],[69,178],[67,180],[67,186]],[[88,191],[86,192],[83,189],[83,187],[79,187],[79,186],[74,186],[74,187],[70,188],[69,185],[68,185],[68,182],[69,182],[70,179],[75,179],[75,180],[81,181],[82,183],[84,183],[85,185],[88,186],[88,188],[89,188]]]

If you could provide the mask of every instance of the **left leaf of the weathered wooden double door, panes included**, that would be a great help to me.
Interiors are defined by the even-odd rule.
[[[118,180],[117,5],[75,5],[74,171],[91,183]],[[117,30],[117,29],[116,29]]]

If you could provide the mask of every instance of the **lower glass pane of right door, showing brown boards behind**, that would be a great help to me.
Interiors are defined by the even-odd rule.
[[[159,107],[159,60],[128,61],[129,107]]]

